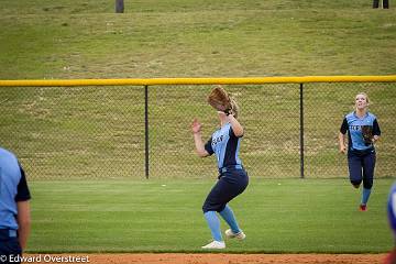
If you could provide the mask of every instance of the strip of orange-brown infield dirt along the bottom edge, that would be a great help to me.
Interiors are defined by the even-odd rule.
[[[24,263],[91,264],[382,264],[386,254],[26,254]]]

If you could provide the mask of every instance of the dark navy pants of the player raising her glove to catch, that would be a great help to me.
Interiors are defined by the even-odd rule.
[[[222,211],[226,205],[242,194],[248,187],[249,177],[244,169],[231,169],[220,174],[219,180],[206,198],[202,210]]]

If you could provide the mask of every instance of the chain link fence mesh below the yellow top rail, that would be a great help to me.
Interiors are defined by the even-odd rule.
[[[376,146],[376,177],[395,176],[395,82],[224,88],[241,107],[239,119],[245,129],[241,158],[251,177],[297,178],[301,173],[306,178],[348,177],[338,133],[360,91],[369,94],[370,111],[383,132]],[[206,102],[211,89],[1,87],[0,145],[20,157],[34,180],[216,177],[215,157],[196,155],[190,132],[194,118],[204,125],[204,140],[219,127],[216,111]]]

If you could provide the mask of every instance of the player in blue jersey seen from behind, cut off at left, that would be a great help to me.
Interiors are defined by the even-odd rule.
[[[0,263],[20,263],[30,233],[30,198],[15,155],[0,147]]]

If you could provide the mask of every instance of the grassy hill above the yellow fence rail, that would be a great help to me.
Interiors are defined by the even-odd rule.
[[[395,74],[371,1],[0,1],[0,78]]]

